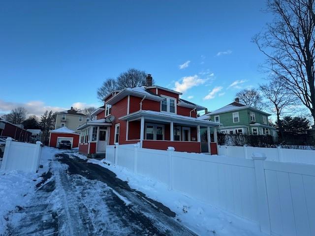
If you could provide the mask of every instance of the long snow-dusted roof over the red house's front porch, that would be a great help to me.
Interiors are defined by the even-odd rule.
[[[220,124],[208,121],[208,120],[202,120],[198,118],[193,117],[186,117],[181,115],[176,115],[172,113],[164,113],[164,112],[155,112],[155,111],[137,111],[134,113],[131,113],[129,115],[126,115],[124,117],[121,117],[119,119],[121,120],[132,120],[137,118],[149,118],[152,120],[158,120],[158,121],[165,121],[165,122],[176,122],[180,124],[194,124],[194,125],[204,125],[204,126],[211,126],[211,127],[218,127]]]

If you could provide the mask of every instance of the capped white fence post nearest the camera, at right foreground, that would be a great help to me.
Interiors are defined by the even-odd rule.
[[[270,235],[270,215],[264,169],[264,160],[266,160],[266,155],[264,153],[254,152],[252,153],[252,159],[254,160],[256,175],[260,230],[261,232]]]

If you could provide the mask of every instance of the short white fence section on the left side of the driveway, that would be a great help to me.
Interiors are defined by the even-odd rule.
[[[41,143],[36,144],[14,142],[7,138],[1,170],[20,170],[36,172],[39,167]]]

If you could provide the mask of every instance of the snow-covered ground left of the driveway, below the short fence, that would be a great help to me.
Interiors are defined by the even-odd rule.
[[[40,176],[48,170],[49,159],[58,151],[55,148],[42,148],[40,165],[43,168],[35,174],[0,170],[0,235],[4,231],[5,215],[16,207],[25,206],[32,199],[35,186],[42,179]]]

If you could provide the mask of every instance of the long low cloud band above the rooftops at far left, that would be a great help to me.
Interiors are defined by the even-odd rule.
[[[82,102],[75,102],[71,106],[80,108],[80,109],[83,109],[89,106],[97,107],[97,105],[86,104]],[[24,107],[28,111],[29,115],[35,115],[38,117],[44,114],[45,111],[61,112],[61,111],[70,109],[70,107],[65,108],[65,107],[58,107],[58,106],[48,106],[42,101],[30,101],[30,102],[22,103],[22,102],[7,102],[4,100],[0,100],[0,116],[4,114],[8,114],[11,110],[17,107]]]

